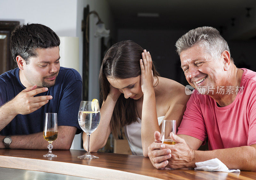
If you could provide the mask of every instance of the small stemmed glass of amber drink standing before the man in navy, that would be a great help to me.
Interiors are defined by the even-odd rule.
[[[44,157],[57,157],[52,154],[52,142],[58,137],[58,124],[57,124],[57,113],[45,113],[44,121],[44,139],[49,142],[47,146],[49,152],[44,154]]]

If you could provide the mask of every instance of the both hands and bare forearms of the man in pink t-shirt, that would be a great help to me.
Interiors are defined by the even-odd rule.
[[[173,133],[170,133],[170,137],[175,140],[177,144],[163,145],[156,143],[159,141],[160,135],[158,135],[158,137],[155,135],[156,142],[153,142],[148,147],[148,156],[155,168],[164,168],[166,165],[169,168],[175,169],[195,168],[196,162],[218,158],[229,169],[256,171],[256,144],[212,151],[197,151],[193,149],[198,148],[199,144],[202,144],[201,140],[188,135],[183,135],[183,139]],[[186,142],[190,142],[190,145]],[[194,146],[191,144],[194,144]],[[163,145],[163,147],[160,145]],[[167,156],[169,152],[167,152],[166,149],[171,150],[171,158]]]

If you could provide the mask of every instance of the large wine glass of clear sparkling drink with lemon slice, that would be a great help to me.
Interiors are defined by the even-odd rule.
[[[87,153],[78,156],[80,159],[97,159],[99,157],[93,156],[90,153],[90,135],[97,129],[100,123],[100,106],[97,99],[92,101],[81,101],[79,112],[78,112],[78,123],[81,129],[87,134],[88,137],[88,148]]]

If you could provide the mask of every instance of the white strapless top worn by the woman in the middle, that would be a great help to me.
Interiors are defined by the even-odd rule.
[[[158,117],[158,124],[160,125],[163,121],[164,116]],[[133,122],[130,125],[124,126],[124,133],[128,140],[132,155],[143,156],[142,143],[141,143],[141,119],[138,118],[139,122]]]

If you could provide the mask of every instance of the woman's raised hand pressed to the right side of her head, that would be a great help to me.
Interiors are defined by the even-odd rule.
[[[149,51],[142,52],[142,59],[140,59],[140,83],[143,94],[152,93],[154,91],[153,82],[154,76],[152,72],[152,59]]]

